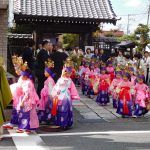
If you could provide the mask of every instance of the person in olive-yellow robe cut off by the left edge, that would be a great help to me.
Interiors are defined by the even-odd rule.
[[[0,57],[0,140],[2,140],[2,124],[6,121],[4,109],[12,100],[12,94],[3,68],[3,58]]]

